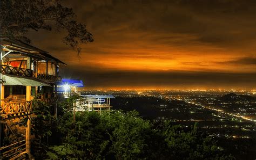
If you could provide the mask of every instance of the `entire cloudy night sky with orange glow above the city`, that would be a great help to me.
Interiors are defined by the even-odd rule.
[[[68,64],[87,89],[256,89],[256,1],[66,0],[93,34],[81,59],[63,32],[32,45]]]

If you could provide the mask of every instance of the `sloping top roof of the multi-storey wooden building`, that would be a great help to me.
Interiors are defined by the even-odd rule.
[[[27,56],[36,57],[40,60],[57,61],[65,64],[64,62],[58,60],[56,57],[53,57],[52,55],[50,55],[48,52],[42,49],[33,47],[19,40],[11,40],[8,38],[0,37],[0,45],[2,45],[4,48],[8,50],[12,50],[12,52],[14,53],[22,53]]]

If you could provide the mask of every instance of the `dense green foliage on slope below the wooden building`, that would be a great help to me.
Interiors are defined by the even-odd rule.
[[[151,122],[138,112],[76,112],[73,101],[62,106],[58,118],[49,106],[34,103],[33,156],[51,159],[231,159],[214,140],[191,128],[171,122]],[[60,109],[60,108],[59,108]]]

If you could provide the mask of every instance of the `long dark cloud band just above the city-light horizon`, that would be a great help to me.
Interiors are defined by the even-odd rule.
[[[83,79],[86,88],[253,89],[256,74],[197,71],[103,71],[68,69],[65,77]],[[83,74],[80,74],[83,72]]]

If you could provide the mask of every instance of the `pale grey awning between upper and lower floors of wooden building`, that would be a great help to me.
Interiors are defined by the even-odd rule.
[[[3,85],[25,85],[25,86],[51,86],[48,83],[32,77],[2,75]]]

